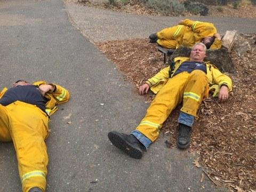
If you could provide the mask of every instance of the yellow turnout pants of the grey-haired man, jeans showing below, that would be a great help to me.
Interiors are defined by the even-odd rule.
[[[152,142],[155,141],[163,123],[179,103],[183,101],[183,113],[196,116],[204,96],[207,97],[208,90],[208,79],[201,70],[175,75],[168,79],[157,93],[136,130]]]

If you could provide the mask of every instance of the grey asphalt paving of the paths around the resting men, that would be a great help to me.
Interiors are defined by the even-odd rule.
[[[65,86],[71,93],[70,101],[51,117],[47,191],[226,191],[216,188],[206,177],[200,182],[202,169],[193,165],[196,155],[166,148],[167,137],[162,134],[140,160],[110,144],[107,133],[132,131],[148,103],[89,40],[99,37],[100,41],[103,34],[108,38],[115,32],[119,15],[133,23],[132,27],[125,25],[133,30],[124,34],[125,38],[137,34],[134,23],[143,23],[144,27],[148,20],[85,7],[90,15],[84,18],[88,31],[85,38],[71,25],[68,13],[73,24],[75,19],[70,6],[60,0],[0,0],[1,87],[10,87],[17,79],[45,79]],[[99,22],[109,16],[115,20]],[[149,17],[159,23],[155,19]],[[170,18],[159,19],[164,23]],[[135,36],[146,37],[157,29],[154,27],[147,27],[144,36],[139,32]],[[251,25],[251,31],[252,27],[255,25]],[[0,191],[21,191],[12,143],[0,143],[0,151]]]

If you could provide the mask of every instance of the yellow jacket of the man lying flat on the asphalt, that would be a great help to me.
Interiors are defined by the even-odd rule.
[[[46,84],[45,81],[37,81],[34,82],[33,85],[42,85]],[[57,105],[60,103],[67,102],[69,100],[69,92],[65,88],[61,87],[57,84],[51,84],[54,86],[53,92],[47,92],[45,94],[45,98],[47,98],[49,101],[46,102],[46,109],[45,112],[51,116],[55,111],[58,110]],[[7,88],[4,87],[4,89],[0,92],[0,99],[3,97],[4,93],[7,91]]]

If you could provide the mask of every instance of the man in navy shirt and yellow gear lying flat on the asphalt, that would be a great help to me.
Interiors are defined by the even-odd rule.
[[[69,92],[44,81],[19,80],[0,93],[0,141],[12,141],[24,192],[45,192],[49,116],[67,102]]]

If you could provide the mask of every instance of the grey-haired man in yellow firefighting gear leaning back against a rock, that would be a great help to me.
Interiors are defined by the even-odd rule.
[[[182,103],[182,108],[178,119],[177,145],[179,148],[189,146],[191,127],[203,98],[208,96],[209,86],[214,87],[214,95],[218,94],[220,102],[228,99],[232,87],[227,75],[210,62],[204,62],[205,52],[206,46],[196,43],[191,49],[190,58],[175,58],[173,69],[170,66],[162,69],[140,87],[140,94],[151,89],[157,95],[146,116],[131,134],[108,133],[114,146],[133,158],[141,158],[143,150],[157,139],[163,123],[179,103]]]

